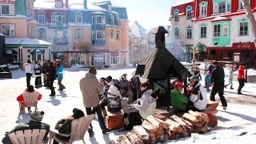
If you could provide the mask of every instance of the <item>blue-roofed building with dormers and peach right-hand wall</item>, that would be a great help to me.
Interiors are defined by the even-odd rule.
[[[54,44],[64,66],[128,66],[126,8],[111,2],[41,0],[34,4],[38,39]]]

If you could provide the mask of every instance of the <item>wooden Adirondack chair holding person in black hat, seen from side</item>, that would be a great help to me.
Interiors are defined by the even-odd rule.
[[[80,141],[80,140],[82,140],[83,143],[86,143],[84,140],[84,137],[85,137],[86,131],[89,129],[90,122],[92,122],[93,119],[94,119],[94,114],[86,115],[82,118],[73,120],[72,124],[71,124],[71,133],[70,134],[61,134],[61,133],[58,133],[58,130],[50,130],[49,144],[52,143],[53,138],[57,142],[65,143],[65,144],[73,143],[75,141]],[[66,141],[66,140],[57,138],[56,134],[62,135],[64,137],[70,136],[70,140]]]

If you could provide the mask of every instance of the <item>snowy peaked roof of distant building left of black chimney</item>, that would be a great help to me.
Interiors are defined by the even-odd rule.
[[[130,26],[130,34],[133,37],[144,37],[146,36],[146,29],[139,25],[138,22],[134,22],[134,24]]]

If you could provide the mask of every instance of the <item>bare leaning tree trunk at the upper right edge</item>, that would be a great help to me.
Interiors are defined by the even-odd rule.
[[[252,12],[248,0],[240,0],[242,2],[243,9],[246,11],[246,17],[250,21],[250,27],[252,33],[254,34],[254,45],[256,46],[256,21],[254,18],[254,13]]]

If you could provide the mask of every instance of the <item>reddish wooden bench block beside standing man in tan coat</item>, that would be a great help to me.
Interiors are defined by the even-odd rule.
[[[106,127],[108,129],[121,129],[124,125],[123,112],[122,110],[118,110],[116,112],[110,112],[106,109]]]

